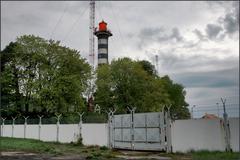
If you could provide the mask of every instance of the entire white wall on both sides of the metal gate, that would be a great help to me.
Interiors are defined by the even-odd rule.
[[[230,145],[239,151],[239,118],[229,118]],[[220,120],[189,119],[176,120],[171,124],[173,152],[190,150],[224,151],[224,130]],[[24,138],[24,125],[2,125],[4,137]],[[12,133],[12,129],[14,132]],[[108,145],[108,124],[82,124],[82,138],[85,145]],[[60,124],[59,142],[76,141],[79,136],[78,124]],[[26,138],[39,139],[39,125],[26,126]],[[41,125],[40,140],[57,141],[57,125]]]

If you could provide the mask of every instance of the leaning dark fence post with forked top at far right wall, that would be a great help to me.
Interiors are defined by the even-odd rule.
[[[224,120],[224,131],[225,131],[225,142],[226,142],[226,151],[231,151],[230,147],[230,128],[229,128],[229,123],[228,123],[228,115],[226,113],[226,99],[223,100],[221,98],[222,104],[223,104],[223,120]]]

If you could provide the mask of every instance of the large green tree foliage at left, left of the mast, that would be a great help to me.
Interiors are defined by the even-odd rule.
[[[1,51],[1,101],[5,113],[54,114],[80,110],[91,68],[78,51],[25,35]]]

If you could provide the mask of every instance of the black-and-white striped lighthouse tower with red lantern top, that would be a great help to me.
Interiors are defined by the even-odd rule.
[[[98,37],[98,66],[108,64],[108,37],[112,33],[107,29],[107,23],[100,22],[94,34]]]

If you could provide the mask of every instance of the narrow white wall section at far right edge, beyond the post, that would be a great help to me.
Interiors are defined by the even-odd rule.
[[[239,152],[239,118],[229,118],[230,146],[234,152]]]

